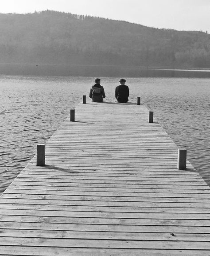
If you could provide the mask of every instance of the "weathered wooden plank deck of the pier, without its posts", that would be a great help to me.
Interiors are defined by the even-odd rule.
[[[210,256],[210,188],[177,151],[143,105],[79,104],[0,197],[0,255]]]

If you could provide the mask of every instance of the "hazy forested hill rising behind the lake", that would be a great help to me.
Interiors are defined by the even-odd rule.
[[[210,68],[210,34],[55,11],[0,14],[0,62]]]

